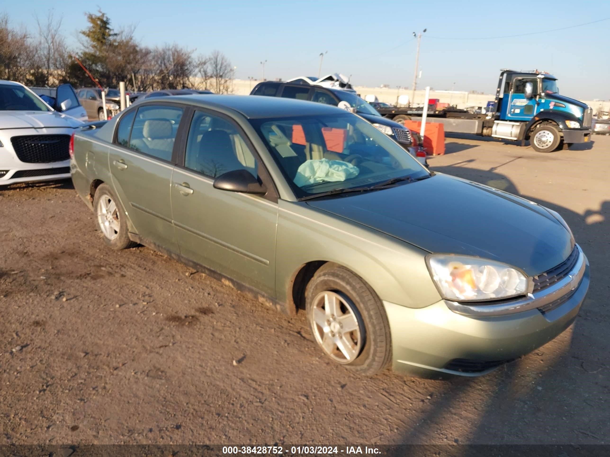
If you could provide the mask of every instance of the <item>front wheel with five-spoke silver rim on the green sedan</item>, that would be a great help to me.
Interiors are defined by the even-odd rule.
[[[325,264],[307,284],[305,299],[312,335],[331,360],[363,376],[389,366],[392,340],[386,310],[361,277]]]

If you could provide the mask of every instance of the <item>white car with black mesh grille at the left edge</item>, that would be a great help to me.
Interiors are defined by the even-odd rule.
[[[0,80],[0,186],[70,178],[70,138],[83,125],[23,84]]]

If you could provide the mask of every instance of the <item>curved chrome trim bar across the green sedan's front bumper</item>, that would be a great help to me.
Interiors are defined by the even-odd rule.
[[[578,260],[572,270],[561,281],[536,292],[536,294],[527,294],[526,297],[497,305],[494,305],[493,302],[487,302],[489,304],[486,305],[480,302],[476,305],[467,305],[465,303],[444,300],[445,304],[454,313],[470,317],[505,316],[506,314],[542,308],[542,306],[548,305],[575,291],[580,285],[587,261],[580,246],[577,244],[576,247],[578,247]]]

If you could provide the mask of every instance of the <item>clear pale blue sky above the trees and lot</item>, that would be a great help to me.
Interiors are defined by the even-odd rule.
[[[95,3],[54,2],[63,34],[72,43]],[[13,26],[35,25],[52,2],[0,6]],[[352,75],[356,85],[411,87],[416,41],[422,39],[418,87],[494,93],[500,68],[542,69],[559,78],[560,92],[580,99],[610,99],[609,1],[187,1],[104,0],[112,26],[134,24],[149,46],[179,43],[207,54],[218,49],[237,66],[235,76],[289,79],[322,74]],[[475,39],[472,39],[475,38]]]

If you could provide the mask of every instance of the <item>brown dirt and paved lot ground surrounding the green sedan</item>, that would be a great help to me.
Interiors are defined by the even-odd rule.
[[[559,211],[591,265],[575,324],[480,378],[356,377],[303,313],[107,249],[70,182],[0,190],[0,444],[608,444],[610,137],[594,140],[460,136],[429,160]]]

